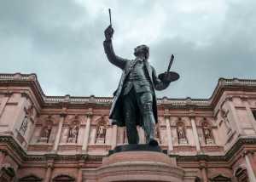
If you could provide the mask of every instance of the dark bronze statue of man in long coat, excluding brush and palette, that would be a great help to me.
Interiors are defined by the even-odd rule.
[[[109,62],[123,70],[119,87],[113,94],[113,104],[109,118],[112,124],[126,127],[129,144],[138,144],[137,125],[143,127],[146,142],[158,145],[154,139],[154,128],[157,122],[157,107],[154,89],[163,90],[170,80],[163,77],[160,80],[152,65],[148,63],[149,48],[146,45],[134,49],[135,60],[120,58],[113,51],[113,28],[108,26],[104,31],[103,42]]]

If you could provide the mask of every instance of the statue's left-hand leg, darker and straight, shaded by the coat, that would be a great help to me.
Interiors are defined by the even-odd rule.
[[[137,134],[137,100],[135,91],[131,89],[129,94],[124,96],[124,113],[126,134],[129,144],[138,144],[139,137]]]

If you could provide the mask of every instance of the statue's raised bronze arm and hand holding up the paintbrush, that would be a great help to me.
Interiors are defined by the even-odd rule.
[[[103,42],[103,46],[109,62],[111,62],[113,65],[118,66],[120,69],[124,70],[126,60],[114,54],[114,51],[113,51],[113,45],[112,45],[113,27],[111,25],[108,26],[108,28],[104,31],[104,33],[105,33],[105,41]]]

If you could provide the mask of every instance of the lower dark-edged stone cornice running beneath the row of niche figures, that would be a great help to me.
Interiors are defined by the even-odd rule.
[[[26,154],[26,151],[20,147],[20,145],[13,139],[12,136],[0,136],[0,143],[6,145],[12,151],[15,151],[15,154],[20,157],[23,162],[102,162],[103,156],[92,156],[88,154],[75,154],[75,155],[59,155],[56,153],[45,153],[44,155],[32,155]],[[241,137],[237,139],[236,143],[230,148],[224,156],[210,156],[206,154],[198,154],[195,156],[181,156],[181,155],[169,155],[170,157],[176,157],[177,162],[230,162],[233,156],[241,150],[245,145],[256,144],[256,138],[247,138]],[[256,147],[255,147],[256,150]],[[3,149],[1,150],[3,151]],[[6,152],[7,150],[4,150]],[[8,153],[8,152],[7,152]]]

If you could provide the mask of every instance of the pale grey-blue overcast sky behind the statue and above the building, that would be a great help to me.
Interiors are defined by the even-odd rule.
[[[255,0],[2,0],[0,72],[36,73],[47,95],[112,96],[121,70],[103,51],[113,16],[116,54],[180,74],[158,97],[209,98],[219,77],[256,79]]]

